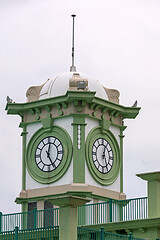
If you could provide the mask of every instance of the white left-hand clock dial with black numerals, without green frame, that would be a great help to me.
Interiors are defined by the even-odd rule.
[[[53,136],[42,139],[35,151],[35,161],[43,172],[54,171],[63,160],[61,141]]]

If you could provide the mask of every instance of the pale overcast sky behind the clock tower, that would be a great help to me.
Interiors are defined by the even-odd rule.
[[[126,120],[124,192],[146,196],[136,173],[160,170],[160,1],[0,0],[0,211],[16,212],[21,190],[20,118],[6,96],[25,102],[28,87],[69,71],[71,14],[76,14],[77,70],[120,91],[120,103],[142,107]]]

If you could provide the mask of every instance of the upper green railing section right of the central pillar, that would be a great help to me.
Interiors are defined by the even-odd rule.
[[[148,198],[112,200],[86,204],[78,208],[78,225],[145,219],[148,217]]]

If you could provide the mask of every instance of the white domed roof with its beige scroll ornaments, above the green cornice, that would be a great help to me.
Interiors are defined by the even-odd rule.
[[[65,72],[40,86],[30,87],[26,92],[27,102],[64,96],[67,91],[92,91],[96,97],[119,104],[118,90],[103,87],[98,80],[80,72]]]

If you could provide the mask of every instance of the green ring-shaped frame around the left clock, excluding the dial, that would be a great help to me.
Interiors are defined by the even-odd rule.
[[[63,159],[59,166],[52,172],[43,172],[35,161],[35,151],[39,142],[49,136],[58,138],[63,145]],[[51,131],[39,129],[30,139],[27,152],[26,163],[31,177],[39,183],[50,184],[60,179],[67,171],[72,159],[72,141],[69,134],[59,126],[53,126]]]

